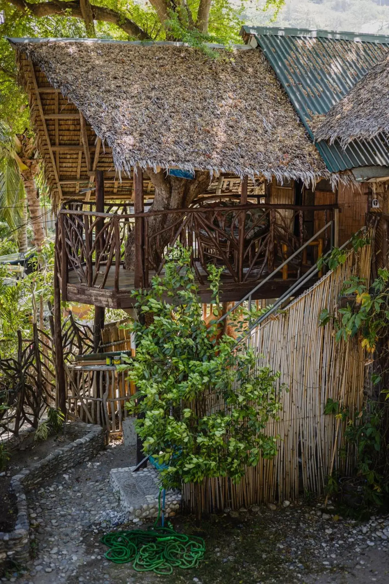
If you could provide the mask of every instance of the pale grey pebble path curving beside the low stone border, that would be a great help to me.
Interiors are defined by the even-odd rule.
[[[32,550],[36,559],[28,566],[27,579],[17,579],[15,573],[10,582],[66,582],[84,562],[101,560],[107,548],[98,543],[99,536],[91,552],[91,537],[101,530],[117,529],[125,520],[111,489],[109,472],[112,467],[134,463],[134,458],[135,450],[126,452],[121,443],[113,443],[93,460],[30,492],[30,523],[36,527]]]

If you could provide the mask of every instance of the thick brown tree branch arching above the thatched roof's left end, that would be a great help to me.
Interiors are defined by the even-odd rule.
[[[80,0],[75,0],[73,2],[40,2],[39,4],[33,4],[26,0],[7,1],[23,14],[33,15],[36,18],[57,15],[73,16],[73,18],[84,20],[80,8]],[[102,20],[103,22],[110,22],[113,25],[117,25],[124,30],[125,33],[129,34],[129,36],[135,37],[135,39],[150,40],[149,35],[141,29],[134,20],[124,18],[121,13],[115,12],[110,8],[103,8],[93,4],[90,5],[90,8],[92,9],[93,20]]]

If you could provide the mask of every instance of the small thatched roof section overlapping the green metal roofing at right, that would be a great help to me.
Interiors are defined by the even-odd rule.
[[[355,140],[369,140],[389,133],[389,57],[367,72],[365,77],[324,116],[318,124],[316,140],[339,139],[342,146]]]

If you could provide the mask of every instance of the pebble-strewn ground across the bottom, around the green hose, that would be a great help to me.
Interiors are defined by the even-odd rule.
[[[125,451],[121,443],[110,444],[94,460],[31,492],[34,559],[24,573],[11,573],[8,580],[17,584],[389,582],[389,516],[356,522],[339,516],[331,505],[324,510],[320,502],[226,510],[204,520],[201,531],[192,518],[175,518],[177,530],[205,538],[205,558],[196,569],[157,576],[108,562],[100,537],[123,520],[109,472],[134,464],[134,457],[135,452]]]

